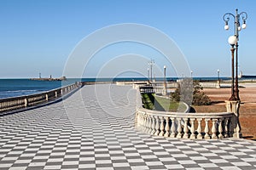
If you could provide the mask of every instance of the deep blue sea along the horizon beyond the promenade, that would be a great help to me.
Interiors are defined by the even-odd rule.
[[[177,78],[166,78],[167,81],[176,81]],[[194,77],[197,80],[217,80],[217,77]],[[221,77],[222,80],[228,79]],[[17,96],[39,94],[61,86],[67,86],[74,82],[118,82],[118,81],[146,81],[146,77],[118,77],[118,78],[69,78],[66,81],[38,81],[31,79],[0,79],[0,99],[12,98]],[[155,78],[156,81],[163,81],[163,78]]]

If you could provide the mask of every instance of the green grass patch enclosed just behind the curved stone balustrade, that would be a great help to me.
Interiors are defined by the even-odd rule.
[[[144,108],[154,111],[186,111],[187,107],[183,103],[161,98],[154,94],[142,94]]]

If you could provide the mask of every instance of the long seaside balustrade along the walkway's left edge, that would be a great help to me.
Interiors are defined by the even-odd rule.
[[[15,98],[0,99],[0,113],[5,111],[14,111],[35,105],[41,105],[61,98],[65,94],[69,94],[74,89],[80,88],[79,83],[74,83],[65,87],[49,90],[41,94],[25,95]]]

